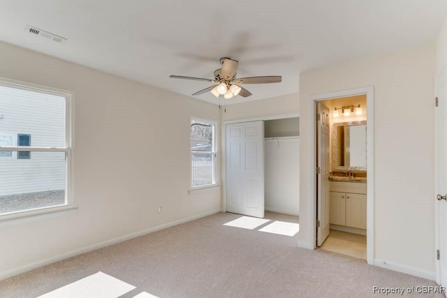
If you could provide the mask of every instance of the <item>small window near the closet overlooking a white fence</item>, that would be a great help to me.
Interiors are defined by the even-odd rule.
[[[191,119],[191,187],[216,182],[216,126],[212,121]]]

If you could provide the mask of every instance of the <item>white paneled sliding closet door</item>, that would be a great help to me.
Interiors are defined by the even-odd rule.
[[[264,217],[264,122],[226,125],[226,211]]]

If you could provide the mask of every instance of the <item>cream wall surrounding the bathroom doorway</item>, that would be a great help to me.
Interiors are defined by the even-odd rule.
[[[434,61],[434,45],[427,45],[300,75],[300,246],[314,247],[310,97],[372,85],[374,258],[434,279]]]

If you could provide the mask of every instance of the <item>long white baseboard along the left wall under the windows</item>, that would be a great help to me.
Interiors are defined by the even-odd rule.
[[[69,251],[67,253],[61,253],[60,255],[55,255],[54,257],[47,258],[45,260],[32,262],[32,263],[29,263],[27,265],[23,265],[23,266],[14,268],[14,269],[10,269],[8,271],[3,271],[3,272],[0,272],[0,281],[3,280],[3,279],[9,278],[11,276],[15,276],[17,274],[22,274],[24,272],[31,271],[31,270],[36,269],[38,267],[42,267],[42,266],[45,266],[45,265],[52,264],[54,262],[59,262],[60,260],[64,260],[64,259],[67,259],[67,258],[74,257],[75,255],[80,255],[82,253],[88,253],[89,251],[94,251],[94,250],[96,250],[98,248],[103,248],[105,246],[110,246],[112,244],[117,244],[117,243],[122,242],[122,241],[126,241],[126,240],[129,240],[129,239],[140,237],[140,236],[143,236],[145,234],[150,234],[152,232],[156,232],[156,231],[159,231],[159,230],[170,228],[170,227],[173,227],[175,225],[180,225],[182,223],[187,223],[189,221],[194,221],[194,220],[196,220],[198,218],[203,218],[205,216],[210,216],[210,215],[213,215],[213,214],[217,214],[219,212],[221,212],[221,209],[214,209],[212,211],[208,211],[208,212],[205,212],[203,214],[198,214],[198,215],[195,215],[195,216],[182,218],[182,219],[179,219],[178,221],[172,221],[170,223],[164,223],[163,225],[157,225],[156,227],[153,227],[153,228],[148,228],[148,229],[141,230],[141,231],[138,231],[138,232],[133,232],[131,234],[126,234],[124,236],[120,236],[120,237],[117,237],[117,238],[113,238],[113,239],[109,239],[109,240],[106,240],[106,241],[102,241],[102,242],[99,242],[97,244],[93,244],[93,245],[90,245],[90,246],[85,246],[83,248],[78,248],[78,249],[75,249],[74,251]]]

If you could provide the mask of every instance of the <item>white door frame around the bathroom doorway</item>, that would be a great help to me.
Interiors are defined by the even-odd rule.
[[[366,239],[367,239],[367,263],[374,265],[374,87],[360,87],[356,89],[347,89],[342,91],[332,91],[324,94],[315,94],[311,96],[312,102],[312,119],[315,119],[316,115],[316,102],[321,100],[329,100],[335,98],[366,95],[367,98],[367,223],[366,223]],[[312,121],[314,123],[314,121]],[[316,239],[316,127],[311,126],[312,137],[314,138],[314,150],[312,151],[314,166],[312,171],[314,174],[310,177],[310,181],[313,182],[313,187],[310,191],[310,198],[312,198],[312,204],[310,204],[309,218],[313,218],[311,229],[311,239]],[[301,208],[300,208],[301,209]],[[314,241],[314,249],[316,248],[316,241]]]

